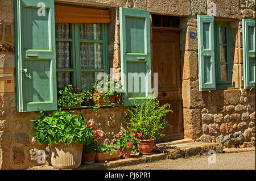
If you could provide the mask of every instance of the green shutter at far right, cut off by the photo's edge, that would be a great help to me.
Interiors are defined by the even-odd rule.
[[[255,88],[255,20],[242,19],[243,86]]]

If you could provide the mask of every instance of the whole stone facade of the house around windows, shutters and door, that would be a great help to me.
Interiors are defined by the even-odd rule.
[[[14,71],[15,25],[14,1],[0,0],[0,70]],[[180,17],[181,99],[184,138],[200,142],[220,142],[226,147],[255,146],[255,89],[243,87],[242,19],[255,19],[254,0],[60,0],[86,6],[106,7],[110,10],[108,26],[109,66],[115,73],[121,71],[119,7],[150,11],[150,14]],[[216,5],[212,9],[212,5]],[[214,12],[212,12],[214,11]],[[213,91],[199,91],[197,14],[213,14],[214,18],[230,22],[232,82],[234,87]],[[151,28],[152,31],[152,28]],[[152,51],[151,51],[152,53]],[[106,142],[111,141],[123,122],[124,108],[100,108],[98,115],[92,109],[82,112],[86,120],[94,123]],[[16,93],[0,92],[0,169],[26,169],[40,165],[38,150],[49,147],[39,145],[34,138],[31,120],[39,112],[16,112]]]

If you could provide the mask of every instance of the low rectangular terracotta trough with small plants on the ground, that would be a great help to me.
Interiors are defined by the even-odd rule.
[[[119,159],[119,148],[120,147],[113,142],[110,144],[100,143],[100,145],[98,145],[97,147],[97,153],[95,158],[96,162],[100,163]]]

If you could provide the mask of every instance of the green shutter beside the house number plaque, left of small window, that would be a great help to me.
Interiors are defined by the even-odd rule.
[[[214,18],[197,15],[199,90],[215,90]]]

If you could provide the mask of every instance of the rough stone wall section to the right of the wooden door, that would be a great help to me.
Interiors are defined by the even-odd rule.
[[[199,3],[200,2],[200,3]],[[255,1],[192,1],[191,16],[180,18],[181,77],[185,138],[199,142],[220,142],[225,147],[255,146],[255,90],[243,89],[242,18],[255,18]],[[211,12],[210,3],[216,11]],[[214,91],[199,91],[197,14],[212,14],[214,19],[230,22],[232,82],[234,87]],[[182,41],[184,40],[184,41]]]

